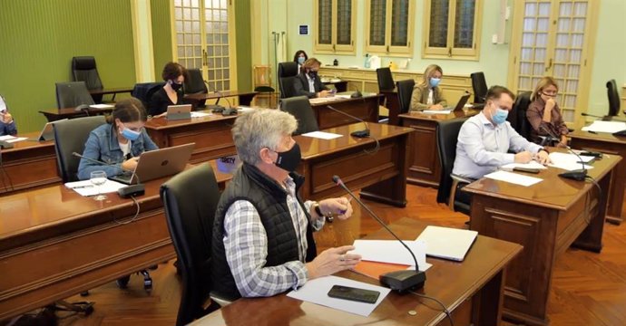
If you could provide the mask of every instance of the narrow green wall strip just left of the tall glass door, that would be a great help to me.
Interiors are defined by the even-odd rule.
[[[151,0],[152,50],[154,53],[154,77],[161,81],[161,72],[171,62],[171,19],[170,1]],[[156,82],[155,81],[155,82]]]

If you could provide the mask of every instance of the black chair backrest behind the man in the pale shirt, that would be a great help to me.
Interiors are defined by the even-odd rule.
[[[441,177],[437,190],[437,203],[447,203],[452,187],[452,168],[455,166],[456,142],[461,126],[467,120],[466,117],[441,120],[437,123],[436,139],[439,151],[439,164],[441,164]]]

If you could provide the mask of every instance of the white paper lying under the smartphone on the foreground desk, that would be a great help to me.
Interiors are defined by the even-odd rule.
[[[357,289],[365,289],[380,292],[376,303],[353,302],[344,299],[331,298],[328,291],[333,285],[349,286]],[[343,312],[350,312],[367,317],[376,309],[391,290],[382,286],[349,280],[338,276],[324,276],[307,281],[301,288],[287,293],[289,298],[298,299],[304,302],[312,302],[328,308],[337,309]]]

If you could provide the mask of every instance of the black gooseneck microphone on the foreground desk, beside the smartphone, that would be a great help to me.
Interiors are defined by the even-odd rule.
[[[426,281],[426,274],[419,271],[416,255],[413,254],[411,248],[409,248],[408,245],[400,240],[400,238],[393,231],[391,231],[391,229],[385,224],[385,222],[380,219],[380,217],[378,217],[371,209],[369,209],[367,205],[365,205],[360,199],[358,199],[358,197],[356,197],[355,194],[350,191],[350,189],[348,189],[346,185],[344,185],[343,181],[341,181],[341,178],[339,178],[338,176],[333,176],[333,182],[335,182],[337,186],[342,187],[344,190],[346,190],[347,194],[350,195],[350,197],[357,200],[358,205],[365,208],[370,216],[374,217],[374,219],[376,219],[377,222],[382,225],[387,232],[389,232],[389,234],[393,235],[396,240],[400,242],[400,244],[404,245],[409,254],[411,254],[411,257],[413,257],[414,263],[416,263],[415,271],[396,271],[380,275],[380,283],[397,292],[405,292],[407,290],[417,290],[423,288]]]

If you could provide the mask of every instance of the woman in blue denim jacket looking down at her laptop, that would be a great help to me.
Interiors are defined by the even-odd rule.
[[[133,171],[144,151],[159,149],[143,129],[146,120],[142,101],[130,98],[116,102],[108,123],[92,130],[83,151],[85,158],[99,160],[109,166],[81,158],[78,178],[89,179],[91,173],[97,170],[106,172],[107,177],[121,175],[122,169]]]

